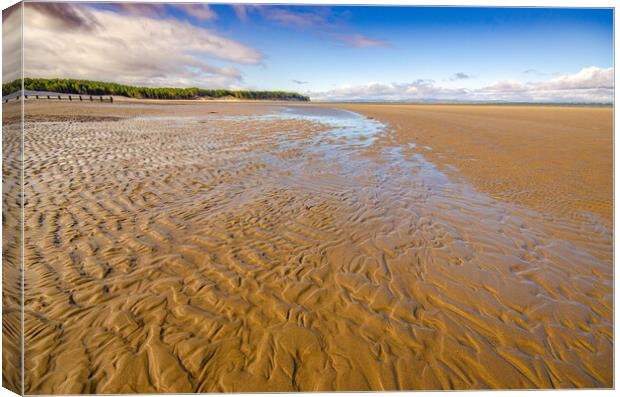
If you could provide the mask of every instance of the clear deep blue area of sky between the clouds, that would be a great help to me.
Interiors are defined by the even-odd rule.
[[[292,79],[315,91],[416,79],[473,87],[613,63],[611,10],[331,7],[326,19],[335,26],[296,27],[256,14],[240,25],[229,7],[213,8],[222,15],[215,23],[267,55],[265,68],[243,69],[248,82],[261,88],[293,89]],[[335,37],[354,34],[387,46],[356,48]],[[471,78],[450,81],[456,73]]]

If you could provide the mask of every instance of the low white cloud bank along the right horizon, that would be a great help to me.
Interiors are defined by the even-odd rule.
[[[419,79],[409,83],[343,85],[307,94],[322,101],[611,102],[613,90],[613,68],[592,66],[540,82],[504,80],[476,89],[442,87],[433,80]]]

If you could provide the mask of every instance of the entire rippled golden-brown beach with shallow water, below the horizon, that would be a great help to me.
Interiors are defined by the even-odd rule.
[[[28,102],[26,392],[612,387],[611,110],[339,107]]]

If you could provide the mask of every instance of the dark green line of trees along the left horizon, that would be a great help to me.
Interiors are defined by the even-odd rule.
[[[21,79],[2,84],[2,96],[21,90]],[[237,98],[254,100],[309,101],[310,98],[286,91],[235,91],[203,88],[136,87],[117,83],[75,79],[24,79],[24,90],[51,91],[79,95],[118,95],[139,99]]]

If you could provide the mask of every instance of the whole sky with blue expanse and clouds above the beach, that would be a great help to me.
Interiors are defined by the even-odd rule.
[[[25,7],[27,77],[287,90],[312,100],[613,100],[611,9]],[[18,16],[3,13],[5,37]],[[3,52],[18,51],[10,47]]]

